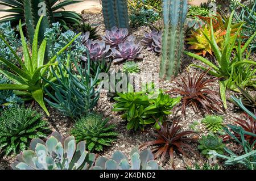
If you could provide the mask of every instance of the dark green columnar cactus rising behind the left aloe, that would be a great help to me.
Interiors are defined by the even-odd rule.
[[[34,39],[35,28],[41,15],[44,15],[38,35],[39,43],[44,39],[44,32],[54,22],[51,4],[45,0],[24,0],[24,17],[27,24],[27,35],[30,43]]]

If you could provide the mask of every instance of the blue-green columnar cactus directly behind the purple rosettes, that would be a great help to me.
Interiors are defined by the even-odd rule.
[[[127,0],[102,0],[102,11],[106,30],[129,28]]]

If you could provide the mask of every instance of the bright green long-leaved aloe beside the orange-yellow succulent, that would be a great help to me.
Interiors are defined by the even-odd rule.
[[[237,91],[237,86],[256,86],[253,81],[251,81],[253,78],[255,78],[256,70],[251,70],[251,65],[256,65],[255,61],[249,60],[249,54],[244,56],[247,47],[250,45],[251,41],[254,40],[254,37],[256,36],[256,32],[253,36],[250,37],[249,40],[246,41],[245,45],[243,47],[241,46],[241,39],[238,41],[238,45],[236,45],[237,37],[240,33],[240,30],[243,26],[238,28],[236,34],[231,38],[231,24],[233,19],[234,12],[230,15],[228,28],[226,29],[226,35],[225,35],[225,41],[224,41],[224,48],[218,47],[216,43],[216,39],[214,38],[214,32],[213,32],[213,23],[212,20],[210,21],[210,29],[211,29],[211,40],[208,35],[206,35],[204,32],[204,36],[209,42],[210,46],[213,49],[214,56],[216,57],[216,64],[213,64],[209,60],[207,60],[204,57],[201,57],[195,53],[191,52],[185,52],[188,56],[191,56],[193,58],[196,58],[197,60],[200,60],[208,67],[212,68],[212,70],[209,71],[209,74],[222,78],[220,79],[220,93],[221,93],[221,99],[224,103],[224,107],[227,108],[226,104],[226,89],[231,89]],[[236,50],[233,50],[236,45]],[[232,53],[235,53],[236,56],[232,58]],[[205,66],[200,65],[194,65],[197,68],[207,70],[208,68]]]

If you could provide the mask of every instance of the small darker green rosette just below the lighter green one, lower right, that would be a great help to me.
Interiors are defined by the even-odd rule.
[[[214,150],[219,154],[224,154],[225,144],[222,143],[222,139],[216,135],[208,134],[203,136],[201,140],[198,141],[198,149],[201,150],[201,154],[209,158],[209,151]]]

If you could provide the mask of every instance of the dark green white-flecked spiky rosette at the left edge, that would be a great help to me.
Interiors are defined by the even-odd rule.
[[[0,150],[9,155],[29,147],[33,138],[46,138],[49,128],[31,108],[11,107],[0,117]]]

